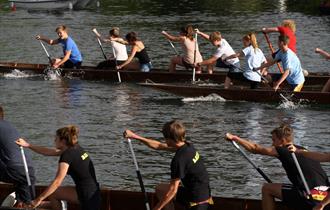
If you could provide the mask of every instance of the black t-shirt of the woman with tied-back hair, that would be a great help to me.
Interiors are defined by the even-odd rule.
[[[78,144],[61,154],[59,163],[61,162],[69,164],[68,174],[76,184],[80,200],[89,199],[88,197],[99,189],[93,162]]]

